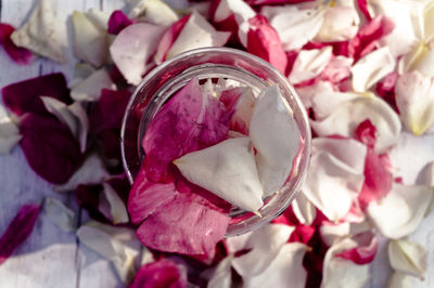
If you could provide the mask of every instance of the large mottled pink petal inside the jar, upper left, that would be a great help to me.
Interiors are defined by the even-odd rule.
[[[228,122],[222,103],[203,94],[197,79],[192,79],[163,106],[146,130],[142,145],[148,178],[170,181],[171,161],[226,139]]]

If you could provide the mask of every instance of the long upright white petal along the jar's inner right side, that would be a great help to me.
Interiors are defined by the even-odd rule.
[[[290,176],[299,147],[299,131],[286,100],[272,86],[257,97],[250,136],[257,150],[256,162],[264,196],[281,188]]]

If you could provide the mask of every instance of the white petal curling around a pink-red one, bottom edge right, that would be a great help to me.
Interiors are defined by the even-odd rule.
[[[336,254],[353,249],[357,241],[346,238],[327,251],[323,262],[321,288],[363,287],[369,280],[369,265],[359,265]]]

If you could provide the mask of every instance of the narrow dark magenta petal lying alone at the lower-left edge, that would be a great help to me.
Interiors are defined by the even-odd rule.
[[[31,204],[20,208],[7,231],[0,237],[0,265],[30,236],[38,219],[39,209],[39,205]]]

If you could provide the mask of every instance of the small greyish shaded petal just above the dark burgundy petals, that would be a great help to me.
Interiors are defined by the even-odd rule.
[[[99,101],[103,89],[116,89],[105,68],[92,73],[88,78],[75,86],[71,91],[71,96],[75,101]]]

